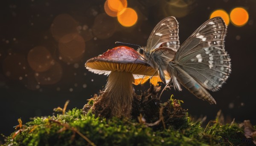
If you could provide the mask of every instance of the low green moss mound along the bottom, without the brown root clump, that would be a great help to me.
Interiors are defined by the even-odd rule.
[[[221,125],[211,121],[202,128],[201,123],[191,122],[189,117],[183,120],[186,126],[154,129],[137,120],[106,119],[73,109],[65,115],[34,118],[5,137],[4,146],[253,145],[236,123]]]

